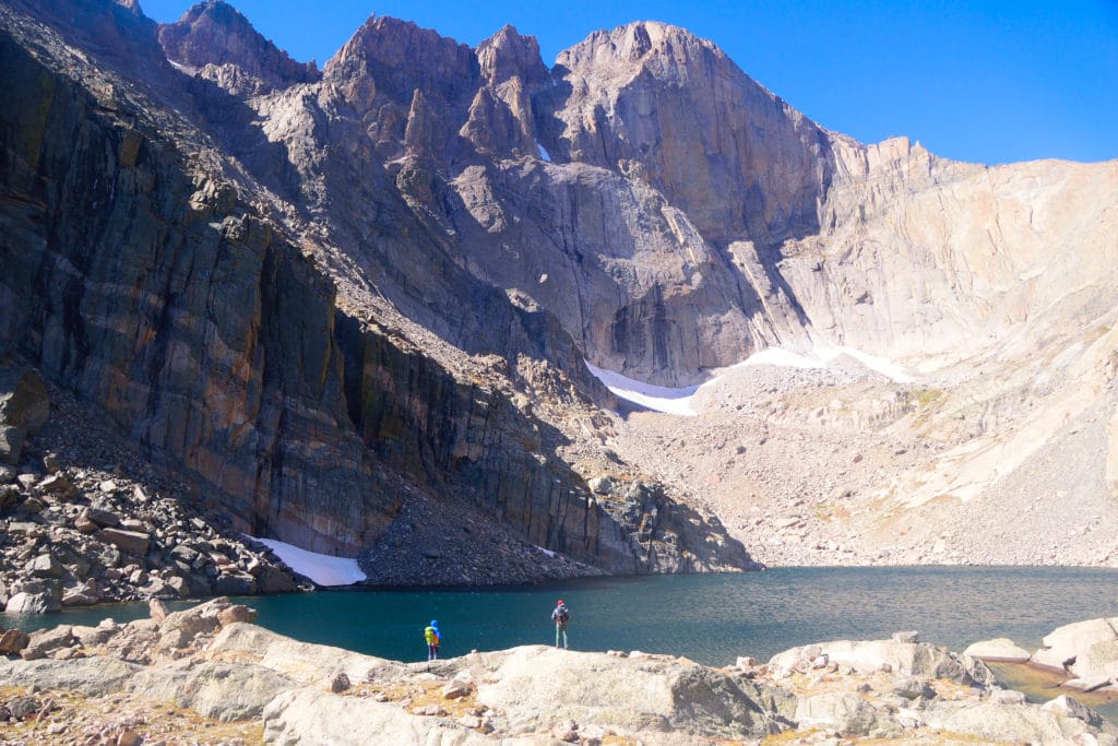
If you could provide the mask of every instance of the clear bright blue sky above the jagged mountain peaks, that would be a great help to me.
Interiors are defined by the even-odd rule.
[[[141,0],[160,22],[190,0]],[[320,67],[371,15],[476,46],[505,23],[543,62],[601,28],[660,20],[711,39],[825,128],[1005,163],[1118,158],[1118,0],[231,0]]]

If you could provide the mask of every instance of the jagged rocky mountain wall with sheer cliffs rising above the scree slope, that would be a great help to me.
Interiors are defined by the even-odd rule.
[[[863,145],[679,28],[549,68],[511,27],[372,17],[319,70],[222,2],[0,13],[0,343],[243,530],[375,580],[754,566],[612,447],[587,361],[1118,347],[1115,163]]]

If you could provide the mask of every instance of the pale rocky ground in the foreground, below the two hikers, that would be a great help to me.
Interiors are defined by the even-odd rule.
[[[0,735],[28,746],[1118,744],[1077,700],[1029,702],[915,632],[726,668],[541,645],[399,663],[254,618],[224,598],[174,613],[153,601],[150,618],[127,624],[4,632]]]

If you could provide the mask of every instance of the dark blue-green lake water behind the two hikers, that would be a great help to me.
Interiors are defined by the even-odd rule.
[[[371,655],[426,658],[423,629],[437,620],[443,655],[553,643],[557,598],[571,610],[570,646],[643,650],[727,665],[767,660],[812,642],[921,640],[961,652],[1010,638],[1033,649],[1053,629],[1118,616],[1118,570],[1052,567],[776,568],[728,575],[595,578],[553,585],[462,589],[324,591],[237,599],[282,634]],[[146,604],[67,611],[48,617],[0,615],[31,630],[148,615]]]

